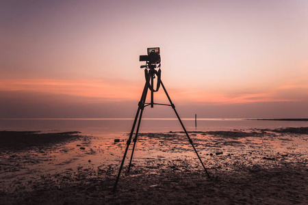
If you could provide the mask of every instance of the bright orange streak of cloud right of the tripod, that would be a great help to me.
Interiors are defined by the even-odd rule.
[[[181,102],[203,102],[205,104],[231,105],[251,102],[307,101],[308,83],[285,83],[276,87],[211,91],[201,89],[173,90],[172,96]]]

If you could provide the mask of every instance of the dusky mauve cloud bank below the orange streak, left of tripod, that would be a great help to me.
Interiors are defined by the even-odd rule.
[[[0,91],[0,118],[132,118],[137,103],[96,102],[80,96]]]

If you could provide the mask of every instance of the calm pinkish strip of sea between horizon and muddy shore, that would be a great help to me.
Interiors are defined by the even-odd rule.
[[[308,122],[300,121],[269,121],[269,120],[246,120],[238,118],[229,119],[198,119],[197,128],[193,118],[182,119],[188,131],[225,131],[230,129],[246,128],[283,128],[288,126],[308,126]],[[129,133],[133,119],[0,119],[1,131],[81,131],[86,135]],[[165,132],[182,131],[181,124],[177,119],[142,119],[140,132]]]

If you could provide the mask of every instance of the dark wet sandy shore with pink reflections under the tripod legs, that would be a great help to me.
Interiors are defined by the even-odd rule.
[[[141,133],[116,192],[127,135],[0,132],[0,204],[308,204],[307,131],[191,132],[211,178],[184,133]]]

